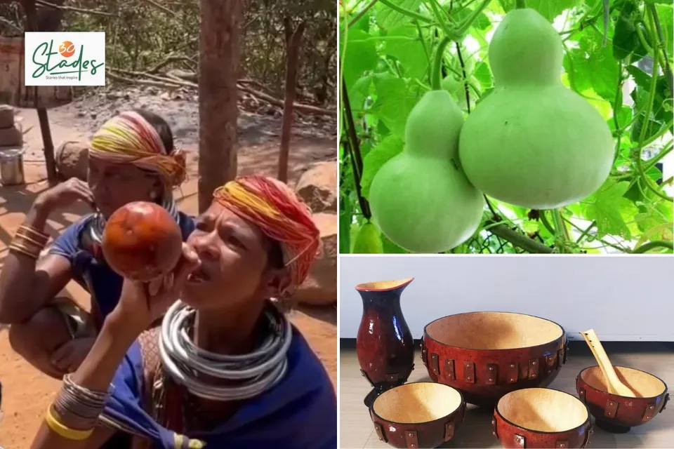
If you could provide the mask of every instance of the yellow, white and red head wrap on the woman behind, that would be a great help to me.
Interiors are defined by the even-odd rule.
[[[91,139],[89,155],[112,162],[128,162],[157,172],[171,186],[185,180],[185,156],[166,154],[159,133],[137,112],[127,111],[103,123]]]

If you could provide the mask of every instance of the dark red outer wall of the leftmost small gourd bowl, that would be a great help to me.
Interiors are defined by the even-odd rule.
[[[465,402],[451,415],[429,422],[399,423],[384,420],[370,407],[370,417],[380,441],[394,448],[437,448],[454,438],[465,418]]]

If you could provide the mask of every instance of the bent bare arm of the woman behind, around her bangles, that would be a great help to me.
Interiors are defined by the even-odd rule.
[[[49,208],[37,199],[24,225],[43,230]],[[20,323],[44,307],[72,279],[70,261],[61,255],[46,255],[38,262],[9,251],[0,272],[0,323]]]

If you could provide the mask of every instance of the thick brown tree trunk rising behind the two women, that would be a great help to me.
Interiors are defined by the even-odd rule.
[[[240,0],[201,0],[199,41],[199,212],[237,175]]]

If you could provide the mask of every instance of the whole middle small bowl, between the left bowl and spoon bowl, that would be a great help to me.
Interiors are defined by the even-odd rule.
[[[492,434],[504,448],[585,448],[591,427],[588,408],[571,394],[527,388],[503,396],[494,408]]]

